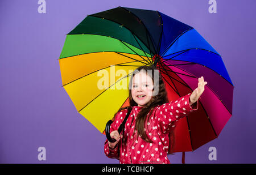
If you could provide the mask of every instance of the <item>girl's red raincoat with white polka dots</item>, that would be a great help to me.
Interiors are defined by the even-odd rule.
[[[125,123],[123,140],[120,139],[115,148],[109,148],[108,139],[105,142],[104,152],[109,158],[118,159],[123,164],[143,164],[143,163],[167,163],[169,147],[169,132],[174,129],[176,122],[187,116],[190,112],[198,109],[198,101],[192,106],[189,105],[189,97],[191,93],[180,97],[176,101],[171,101],[163,105],[158,105],[153,110],[151,116],[146,119],[144,130],[152,143],[145,142],[137,131],[134,131],[135,120],[142,106],[133,106],[130,116]],[[118,130],[118,127],[125,119],[127,109],[117,113],[114,122],[110,127],[110,133]],[[134,135],[133,135],[134,133]]]

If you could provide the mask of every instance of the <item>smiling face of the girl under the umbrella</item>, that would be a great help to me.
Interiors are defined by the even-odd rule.
[[[150,101],[153,88],[154,82],[152,78],[146,74],[146,71],[139,71],[134,75],[131,96],[138,106],[144,106]]]

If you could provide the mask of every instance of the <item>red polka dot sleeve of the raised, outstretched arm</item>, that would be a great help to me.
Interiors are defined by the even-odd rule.
[[[180,118],[183,118],[198,109],[198,100],[192,105],[189,105],[190,96],[191,93],[188,93],[188,95],[180,97],[176,101],[171,101],[158,106],[156,109],[156,121],[160,133],[169,133],[174,129]]]

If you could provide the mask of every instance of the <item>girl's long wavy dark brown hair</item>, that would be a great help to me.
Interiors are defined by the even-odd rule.
[[[130,105],[126,106],[126,107],[123,107],[123,108],[120,108],[118,110],[118,112],[120,112],[123,109],[131,110],[133,106],[138,106],[138,104],[133,100],[133,97],[131,96],[131,87],[132,87],[132,84],[133,84],[134,75],[137,74],[141,70],[145,70],[146,73],[147,73],[147,70],[151,70],[152,74],[147,74],[147,75],[149,75],[152,78],[154,86],[155,85],[159,86],[158,87],[159,90],[158,90],[158,94],[155,95],[155,96],[152,96],[150,101],[148,101],[148,103],[146,105],[144,105],[143,108],[139,111],[139,113],[137,115],[134,131],[135,130],[138,131],[137,138],[138,138],[138,135],[140,135],[141,138],[144,141],[146,141],[148,143],[152,143],[152,140],[148,138],[148,136],[146,134],[146,131],[144,130],[144,126],[145,126],[144,123],[146,122],[146,119],[147,119],[147,122],[148,122],[148,119],[149,119],[149,117],[147,117],[147,114],[148,114],[148,116],[151,116],[152,111],[156,106],[169,102],[168,97],[167,97],[167,91],[166,91],[165,84],[163,82],[161,74],[158,72],[159,79],[158,80],[154,79],[154,77],[155,77],[154,73],[155,73],[155,70],[158,71],[157,69],[155,69],[152,66],[141,66],[141,67],[138,67],[136,70],[134,70],[133,74],[131,74],[131,78],[130,78],[130,82],[129,82],[129,104]],[[156,83],[155,83],[155,81],[156,81]],[[155,87],[154,87],[154,89],[155,89]],[[154,91],[154,89],[153,89],[153,91]],[[117,113],[114,114],[114,117]],[[114,120],[114,118],[113,118],[113,120]],[[171,148],[174,146],[174,133],[173,133],[173,131],[171,131],[170,136],[171,136],[171,142],[172,143],[170,143],[170,149],[169,150],[171,150]]]

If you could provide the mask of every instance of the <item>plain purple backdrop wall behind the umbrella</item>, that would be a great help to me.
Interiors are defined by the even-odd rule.
[[[87,14],[118,6],[158,10],[191,25],[222,55],[235,86],[233,116],[219,137],[185,163],[256,163],[256,1],[208,0],[0,2],[0,163],[119,163],[104,155],[105,135],[77,113],[61,87],[59,61],[65,37]],[[207,80],[205,80],[207,81]],[[38,148],[46,147],[46,161]],[[208,148],[217,148],[217,161]],[[181,163],[181,153],[168,156]]]

